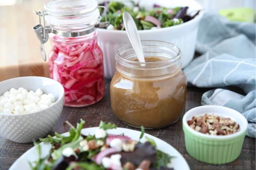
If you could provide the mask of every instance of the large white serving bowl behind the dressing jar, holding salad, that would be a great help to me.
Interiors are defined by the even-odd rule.
[[[194,0],[141,0],[140,5],[145,7],[159,4],[163,7],[188,6],[188,12],[202,9],[201,5]],[[193,59],[196,47],[196,37],[199,22],[203,16],[203,11],[194,19],[168,28],[153,30],[140,30],[141,40],[158,40],[175,44],[182,52],[182,65],[187,66]],[[98,29],[98,44],[103,51],[104,74],[106,78],[112,78],[116,72],[115,55],[117,49],[129,43],[126,31]]]

